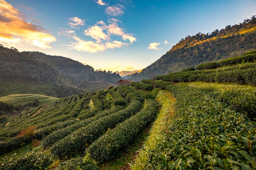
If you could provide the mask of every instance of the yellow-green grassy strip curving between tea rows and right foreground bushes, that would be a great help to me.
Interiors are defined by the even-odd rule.
[[[158,91],[156,100],[162,108],[150,130],[150,135],[145,141],[144,148],[139,151],[139,155],[136,157],[135,162],[130,164],[132,170],[142,170],[144,168],[147,159],[146,150],[155,148],[157,140],[164,138],[163,136],[164,133],[166,133],[167,126],[171,122],[176,99],[169,91],[161,90]]]

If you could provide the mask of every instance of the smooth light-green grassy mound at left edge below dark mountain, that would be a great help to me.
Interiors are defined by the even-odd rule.
[[[0,101],[7,102],[12,105],[18,105],[18,104],[24,105],[24,104],[27,104],[28,102],[31,102],[33,99],[38,99],[40,102],[40,105],[44,105],[44,104],[54,102],[58,98],[45,96],[45,95],[36,95],[36,94],[16,94],[16,95],[8,95],[8,96],[0,97]]]

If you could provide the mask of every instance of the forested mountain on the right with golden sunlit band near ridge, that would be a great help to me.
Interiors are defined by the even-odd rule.
[[[224,60],[254,49],[256,49],[256,15],[244,20],[243,23],[228,25],[220,31],[188,35],[141,73],[126,78],[132,81],[153,79],[157,75],[195,68],[200,63]]]

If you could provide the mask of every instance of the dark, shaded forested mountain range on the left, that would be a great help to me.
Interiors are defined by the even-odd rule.
[[[4,46],[0,46],[0,73],[0,96],[34,93],[65,97],[88,92],[89,82],[115,84],[121,79],[116,73],[94,71],[67,57],[18,52]]]

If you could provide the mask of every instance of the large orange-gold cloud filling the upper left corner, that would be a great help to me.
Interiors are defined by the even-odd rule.
[[[50,49],[56,38],[47,34],[42,27],[25,22],[18,9],[4,0],[0,0],[0,41],[10,45],[25,42],[41,49]]]

